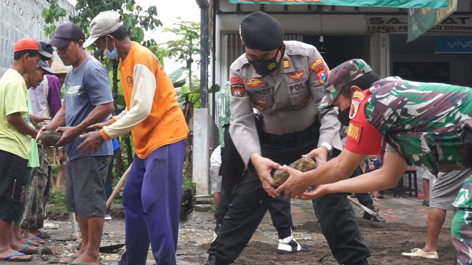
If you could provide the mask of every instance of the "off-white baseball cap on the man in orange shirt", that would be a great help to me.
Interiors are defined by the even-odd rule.
[[[101,36],[114,32],[121,25],[123,25],[123,21],[117,11],[101,12],[90,22],[90,37],[84,42],[84,48],[92,45]]]

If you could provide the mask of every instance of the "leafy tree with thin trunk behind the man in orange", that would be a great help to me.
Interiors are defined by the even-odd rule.
[[[145,40],[144,31],[154,30],[162,23],[157,16],[156,6],[150,6],[147,9],[143,9],[141,6],[136,4],[135,0],[78,0],[76,6],[71,10],[61,8],[58,4],[58,0],[48,0],[50,3],[49,8],[44,8],[41,12],[41,16],[46,22],[44,27],[44,33],[47,37],[52,38],[54,31],[56,30],[56,23],[62,24],[64,17],[68,16],[70,22],[78,25],[85,36],[89,35],[89,26],[93,17],[100,14],[103,11],[115,10],[122,16],[123,25],[125,25],[128,31],[128,37],[132,41],[139,42],[144,46],[148,47],[157,58],[167,56],[168,53],[162,47],[156,44],[153,39]],[[119,114],[125,109],[123,91],[119,89],[120,75],[118,74],[118,60],[111,60],[109,58],[101,58],[100,52],[96,52],[95,46],[89,46],[87,48],[93,54],[95,58],[101,60],[101,62],[107,67],[108,71],[111,70],[110,80],[112,83],[113,99],[115,104],[115,115]],[[134,146],[133,141],[130,137],[130,133],[120,136],[120,146],[122,147],[117,154],[116,162],[116,174],[121,175],[125,171],[126,160],[127,165],[133,161]],[[121,150],[126,151],[126,154],[121,153]]]

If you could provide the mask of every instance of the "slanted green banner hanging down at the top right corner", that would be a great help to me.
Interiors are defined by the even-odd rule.
[[[457,0],[448,0],[447,8],[410,8],[408,10],[408,39],[410,42],[443,22],[457,10]]]

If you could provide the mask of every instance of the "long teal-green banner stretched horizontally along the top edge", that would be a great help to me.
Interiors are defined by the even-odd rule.
[[[314,4],[351,7],[384,8],[447,8],[448,0],[229,0],[230,4]]]

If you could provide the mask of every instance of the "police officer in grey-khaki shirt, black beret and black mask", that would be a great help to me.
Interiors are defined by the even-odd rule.
[[[207,265],[234,262],[271,202],[280,199],[275,196],[277,185],[270,175],[272,170],[303,155],[323,163],[335,149],[342,149],[337,109],[317,108],[324,96],[322,83],[329,68],[316,48],[299,41],[284,41],[282,26],[262,12],[245,17],[240,34],[246,53],[230,66],[229,132],[247,169],[208,250]],[[262,126],[256,125],[253,108],[261,112]],[[263,128],[261,137],[258,127]],[[337,262],[367,264],[370,252],[346,194],[320,198],[315,211]],[[290,225],[277,230],[279,242],[300,250]]]

